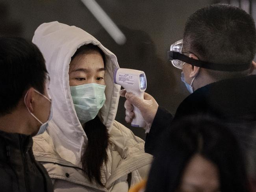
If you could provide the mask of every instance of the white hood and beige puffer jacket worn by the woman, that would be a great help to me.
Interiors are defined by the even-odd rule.
[[[128,190],[128,185],[138,182],[138,169],[147,166],[152,156],[144,152],[144,141],[134,136],[130,129],[116,122],[120,86],[113,83],[116,56],[89,33],[75,26],[59,22],[41,24],[32,42],[44,55],[50,74],[50,96],[53,119],[45,133],[34,137],[33,151],[53,179],[54,190],[65,192]],[[87,136],[80,124],[69,87],[69,63],[72,55],[84,44],[98,46],[106,55],[106,102],[98,116],[109,131],[108,163],[102,167],[104,187],[89,182],[82,171],[80,159],[86,147]]]

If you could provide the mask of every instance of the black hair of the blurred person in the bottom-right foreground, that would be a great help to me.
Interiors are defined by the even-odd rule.
[[[195,154],[217,166],[221,191],[249,191],[244,155],[224,123],[204,116],[188,116],[174,123],[162,139],[145,192],[174,192]]]

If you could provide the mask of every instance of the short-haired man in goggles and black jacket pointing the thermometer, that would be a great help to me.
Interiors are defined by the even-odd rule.
[[[211,114],[231,124],[251,124],[234,129],[250,155],[248,172],[256,178],[256,29],[253,18],[242,9],[213,4],[198,9],[185,24],[183,39],[171,45],[171,63],[182,70],[181,81],[191,93],[178,106],[175,116],[152,96],[126,97],[126,121],[134,118],[133,104],[146,122],[145,151],[153,154],[159,135],[171,129],[173,122],[189,114]],[[168,89],[168,86],[166,86]],[[169,96],[171,98],[171,96]],[[250,141],[250,142],[249,142]]]

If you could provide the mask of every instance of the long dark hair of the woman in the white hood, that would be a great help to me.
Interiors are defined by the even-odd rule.
[[[105,68],[105,54],[98,46],[93,44],[86,44],[78,48],[71,60],[77,55],[86,54],[91,50],[100,52]],[[83,130],[87,135],[88,143],[81,157],[82,168],[85,170],[91,182],[96,181],[96,183],[103,186],[100,170],[102,165],[108,161],[108,130],[98,116],[86,122],[83,126]]]

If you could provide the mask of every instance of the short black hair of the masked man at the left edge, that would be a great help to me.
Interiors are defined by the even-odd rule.
[[[45,59],[32,42],[0,37],[0,115],[11,113],[30,87],[44,93]]]

